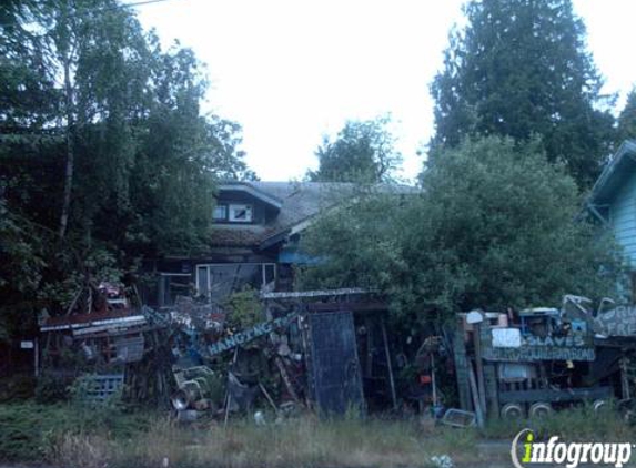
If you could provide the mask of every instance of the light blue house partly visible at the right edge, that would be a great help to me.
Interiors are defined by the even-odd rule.
[[[636,297],[636,141],[625,141],[594,184],[587,210],[610,228],[630,266]]]

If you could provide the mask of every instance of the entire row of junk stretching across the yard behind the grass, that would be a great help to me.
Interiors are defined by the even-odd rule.
[[[361,288],[255,292],[238,308],[182,295],[153,309],[130,296],[101,283],[41,317],[37,373],[81,376],[89,398],[157,404],[180,421],[354,409],[478,426],[612,400],[636,415],[636,308],[609,299],[477,309],[405,336]]]

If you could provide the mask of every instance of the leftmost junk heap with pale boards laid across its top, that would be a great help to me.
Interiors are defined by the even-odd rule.
[[[123,287],[88,286],[64,315],[43,314],[40,332],[42,374],[62,381],[91,375],[95,399],[125,390],[131,400],[168,401],[168,329],[151,309],[132,307]]]

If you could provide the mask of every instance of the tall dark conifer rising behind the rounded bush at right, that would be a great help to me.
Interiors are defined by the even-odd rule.
[[[435,99],[436,149],[466,135],[543,139],[548,161],[565,161],[588,187],[612,152],[610,104],[585,48],[571,0],[473,0],[468,26],[451,34]]]

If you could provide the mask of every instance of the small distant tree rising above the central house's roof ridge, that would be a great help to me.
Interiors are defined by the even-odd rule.
[[[327,136],[316,151],[320,166],[307,172],[313,182],[387,182],[402,161],[386,129],[388,118],[347,121],[332,141]]]

